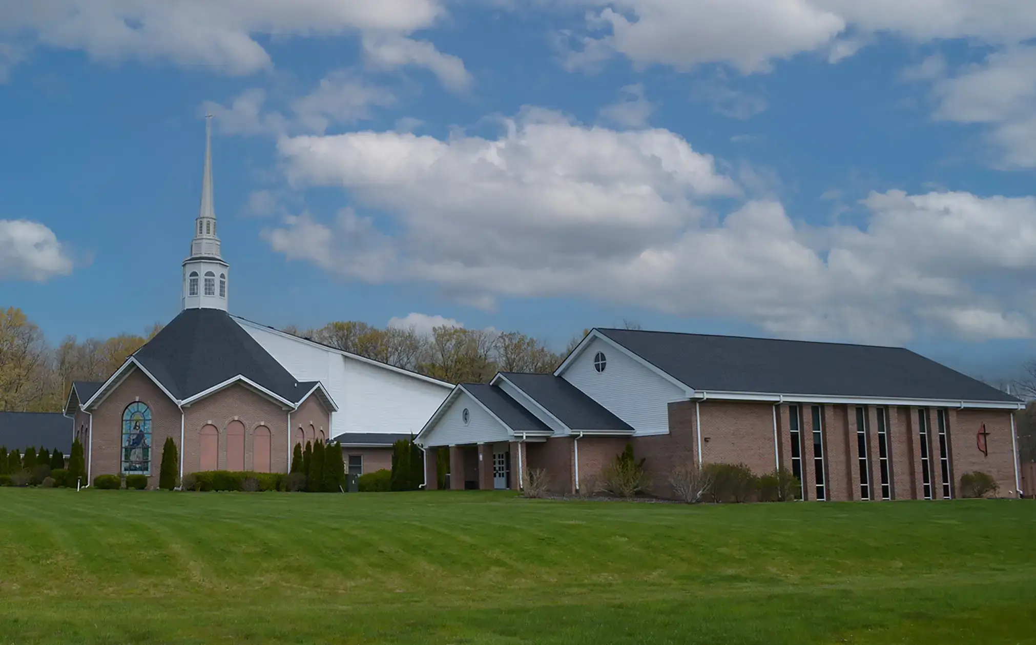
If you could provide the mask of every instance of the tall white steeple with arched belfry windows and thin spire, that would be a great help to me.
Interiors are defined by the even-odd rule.
[[[191,255],[183,260],[183,309],[227,310],[230,264],[220,254],[212,205],[212,115],[205,115],[205,169],[201,179],[201,205],[195,220]]]

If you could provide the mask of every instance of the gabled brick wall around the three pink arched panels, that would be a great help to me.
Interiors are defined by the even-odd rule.
[[[253,470],[254,432],[264,425],[270,432],[270,471],[288,472],[288,411],[280,403],[244,386],[233,385],[184,408],[183,413],[184,474],[201,470],[201,428],[206,424],[219,431],[218,465],[221,470],[227,468],[227,426],[234,421],[244,426],[244,470]]]

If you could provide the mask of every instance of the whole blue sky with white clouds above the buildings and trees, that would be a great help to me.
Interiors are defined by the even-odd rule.
[[[5,6],[0,304],[55,342],[172,318],[211,111],[255,320],[559,347],[630,319],[1010,375],[1036,357],[1036,7],[919,5]]]

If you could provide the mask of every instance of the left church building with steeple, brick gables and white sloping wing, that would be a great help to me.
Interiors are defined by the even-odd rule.
[[[211,128],[201,206],[182,262],[181,311],[104,383],[76,382],[64,414],[87,479],[143,474],[157,484],[172,438],[179,470],[286,473],[295,444],[337,441],[350,475],[391,467],[452,385],[228,312],[230,264],[217,233]]]

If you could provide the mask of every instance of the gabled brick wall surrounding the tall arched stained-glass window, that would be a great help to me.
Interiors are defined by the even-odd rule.
[[[122,413],[140,401],[151,410],[151,474],[148,486],[159,484],[162,446],[167,437],[180,443],[180,411],[142,371],[133,368],[115,390],[93,412],[90,438],[90,481],[97,475],[118,475],[122,471]]]

